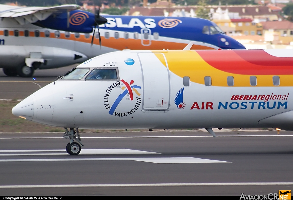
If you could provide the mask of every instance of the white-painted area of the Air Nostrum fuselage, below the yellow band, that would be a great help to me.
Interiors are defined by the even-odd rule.
[[[117,69],[117,80],[85,80],[88,73],[80,80],[59,79],[30,95],[12,112],[37,123],[68,128],[252,128],[282,124],[260,121],[293,109],[292,87],[207,87],[195,82],[184,86],[182,77],[165,62],[166,66],[151,51],[101,55],[78,68],[89,69],[88,73],[95,68]],[[127,89],[125,82],[133,96],[130,92],[122,95]],[[178,107],[174,99],[179,93],[183,102]],[[231,100],[233,95],[272,93],[281,97]],[[122,99],[118,101],[119,96]]]

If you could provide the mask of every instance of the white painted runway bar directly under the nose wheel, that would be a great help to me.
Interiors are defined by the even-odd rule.
[[[16,152],[16,153],[0,153],[0,156],[22,156],[22,155],[68,155],[64,149],[50,150],[0,150],[0,152]],[[64,153],[19,153],[19,152],[64,152]],[[82,149],[81,155],[108,155],[108,154],[159,154],[156,152],[140,151],[132,149]]]

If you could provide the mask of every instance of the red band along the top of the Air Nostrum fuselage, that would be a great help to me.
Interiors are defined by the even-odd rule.
[[[264,50],[218,50],[197,53],[212,67],[233,74],[293,74],[293,57],[275,57]]]

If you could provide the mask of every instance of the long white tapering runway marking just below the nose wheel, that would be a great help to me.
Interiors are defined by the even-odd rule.
[[[221,160],[209,160],[194,157],[155,157],[155,158],[56,158],[56,159],[3,159],[0,162],[37,162],[37,161],[106,161],[106,160],[132,160],[152,163],[230,163]]]

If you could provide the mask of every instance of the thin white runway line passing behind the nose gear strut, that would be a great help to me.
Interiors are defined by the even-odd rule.
[[[217,137],[292,137],[293,135],[217,135]],[[113,137],[81,137],[86,138],[208,138],[212,135],[167,135],[167,136],[113,136]],[[0,139],[64,139],[63,137],[17,137]]]

